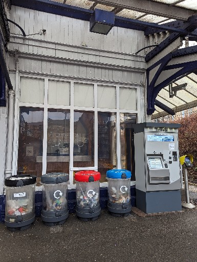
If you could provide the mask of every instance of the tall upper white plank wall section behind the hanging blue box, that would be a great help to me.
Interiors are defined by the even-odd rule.
[[[144,47],[144,32],[142,31],[114,27],[107,35],[101,35],[89,31],[89,21],[16,6],[11,8],[10,19],[24,28],[27,35],[38,33],[40,29],[47,30],[45,36],[31,36],[35,39],[75,46],[81,46],[83,43],[95,49],[130,54]],[[21,31],[13,24],[10,24],[10,32],[21,34]]]

